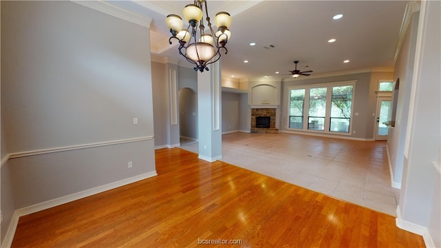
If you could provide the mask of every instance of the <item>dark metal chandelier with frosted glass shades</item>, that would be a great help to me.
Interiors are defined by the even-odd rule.
[[[205,33],[204,8],[209,33]],[[172,39],[177,39],[179,54],[196,65],[194,70],[203,72],[208,70],[207,65],[220,59],[221,49],[227,54],[228,50],[225,45],[231,37],[228,27],[232,23],[232,17],[227,12],[218,12],[214,17],[214,25],[218,28],[215,33],[208,16],[206,0],[194,0],[194,4],[185,6],[183,14],[189,23],[187,29],[183,29],[183,21],[176,14],[169,14],[165,19],[167,28],[172,33],[169,43],[172,44]]]

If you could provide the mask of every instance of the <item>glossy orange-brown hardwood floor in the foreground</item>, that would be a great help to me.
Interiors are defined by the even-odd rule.
[[[158,149],[158,176],[23,216],[12,247],[424,247],[393,216],[197,156]]]

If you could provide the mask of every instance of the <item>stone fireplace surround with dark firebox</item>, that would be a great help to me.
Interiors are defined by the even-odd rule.
[[[277,134],[278,129],[276,129],[276,108],[252,108],[251,109],[251,132],[252,133],[263,133],[263,134]],[[257,121],[258,117],[259,121]],[[269,117],[269,127],[265,125],[267,117]],[[264,122],[260,122],[264,121]],[[266,123],[265,123],[266,124]]]

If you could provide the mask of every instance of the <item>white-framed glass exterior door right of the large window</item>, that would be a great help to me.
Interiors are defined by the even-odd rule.
[[[391,121],[391,96],[377,97],[375,139],[376,141],[386,141],[389,134],[389,121]]]

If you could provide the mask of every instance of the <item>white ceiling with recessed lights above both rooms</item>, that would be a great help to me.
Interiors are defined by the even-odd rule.
[[[168,44],[167,14],[178,14],[193,1],[112,1],[120,7],[152,17],[151,49],[156,59],[180,60],[177,43]],[[232,15],[228,54],[220,59],[222,74],[238,79],[278,76],[294,70],[313,74],[393,67],[407,1],[214,1],[210,17],[220,11]],[[335,14],[344,14],[333,20]],[[186,25],[186,24],[184,24]],[[329,39],[336,39],[328,43]],[[250,46],[250,42],[256,42]],[[274,48],[267,49],[269,45]],[[350,63],[343,63],[349,59]],[[243,63],[244,60],[249,63]],[[305,67],[308,65],[308,67]]]

